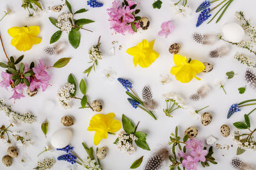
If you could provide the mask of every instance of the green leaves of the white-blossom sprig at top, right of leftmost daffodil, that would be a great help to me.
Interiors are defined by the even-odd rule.
[[[72,13],[72,17],[69,18],[69,21],[72,24],[72,29],[68,33],[68,41],[69,41],[70,45],[72,45],[74,48],[77,48],[79,46],[80,40],[81,40],[81,34],[79,32],[79,29],[84,29],[83,25],[90,24],[94,21],[87,19],[87,18],[80,18],[77,20],[74,19],[75,15],[77,13],[84,13],[88,10],[81,8],[80,10],[77,10],[76,12],[73,13],[72,6],[70,5],[70,3],[67,0],[66,0],[66,4],[67,4],[68,10],[70,11],[70,13]],[[51,36],[50,43],[55,43],[56,41],[58,41],[60,39],[62,31],[61,31],[61,28],[56,25],[58,23],[58,21],[56,19],[49,17],[49,20],[52,23],[52,25],[54,25],[55,27],[60,29],[59,31],[54,32],[54,34],[52,34],[52,36]],[[88,29],[84,29],[84,30],[90,31]],[[93,31],[90,31],[90,32],[93,32]]]

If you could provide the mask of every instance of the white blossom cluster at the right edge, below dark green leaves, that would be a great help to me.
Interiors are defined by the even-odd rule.
[[[232,137],[232,140],[236,142],[236,145],[239,148],[244,150],[256,150],[256,141],[250,141],[249,139],[247,139],[247,136],[241,136],[241,134],[239,134],[239,131],[235,132]]]

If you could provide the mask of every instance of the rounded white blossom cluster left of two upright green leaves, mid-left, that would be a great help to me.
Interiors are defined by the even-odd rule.
[[[60,105],[65,109],[71,108],[70,103],[72,96],[70,96],[70,93],[75,92],[74,88],[75,86],[72,83],[67,83],[58,90],[57,99]]]

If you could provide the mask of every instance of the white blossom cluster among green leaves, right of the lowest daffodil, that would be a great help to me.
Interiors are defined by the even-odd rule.
[[[132,154],[135,152],[135,148],[132,146],[132,141],[138,140],[134,134],[124,134],[125,132],[120,132],[118,134],[118,141],[116,143],[117,148],[125,153]]]

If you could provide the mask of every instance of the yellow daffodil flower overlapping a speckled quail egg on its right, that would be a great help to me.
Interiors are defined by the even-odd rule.
[[[190,60],[187,62],[186,56],[175,54],[173,55],[174,64],[176,66],[172,67],[171,74],[175,75],[175,78],[181,83],[188,83],[193,79],[201,80],[196,77],[197,73],[204,71],[205,66],[202,62],[198,60]]]

